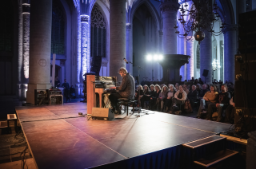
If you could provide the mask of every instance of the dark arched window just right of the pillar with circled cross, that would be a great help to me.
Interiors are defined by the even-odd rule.
[[[51,25],[51,53],[59,55],[65,55],[65,18],[62,11],[62,4],[58,0],[54,0]]]

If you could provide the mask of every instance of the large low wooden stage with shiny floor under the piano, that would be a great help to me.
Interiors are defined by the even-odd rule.
[[[38,168],[179,168],[183,143],[215,136],[230,124],[147,112],[87,120],[85,103],[16,107]]]

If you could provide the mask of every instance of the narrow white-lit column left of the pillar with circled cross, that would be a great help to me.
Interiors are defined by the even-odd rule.
[[[23,14],[23,71],[25,81],[28,82],[30,69],[30,4],[22,4]]]

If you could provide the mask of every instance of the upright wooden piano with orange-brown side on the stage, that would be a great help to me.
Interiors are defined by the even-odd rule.
[[[110,108],[111,92],[116,92],[111,87],[117,84],[117,77],[100,77],[95,75],[86,75],[86,91],[87,91],[87,114],[90,115],[92,108]],[[102,101],[102,96],[103,101]]]

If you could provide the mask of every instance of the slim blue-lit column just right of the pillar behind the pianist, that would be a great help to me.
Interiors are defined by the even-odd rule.
[[[131,33],[131,25],[130,23],[126,23],[126,60],[133,62],[133,36]],[[133,74],[133,65],[126,65],[126,69],[129,73]]]

